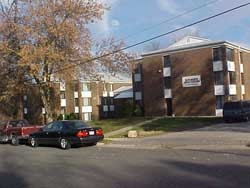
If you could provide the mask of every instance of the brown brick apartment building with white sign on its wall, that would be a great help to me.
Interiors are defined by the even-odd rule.
[[[222,116],[225,101],[250,100],[250,50],[188,36],[143,54],[133,88],[145,116]]]

